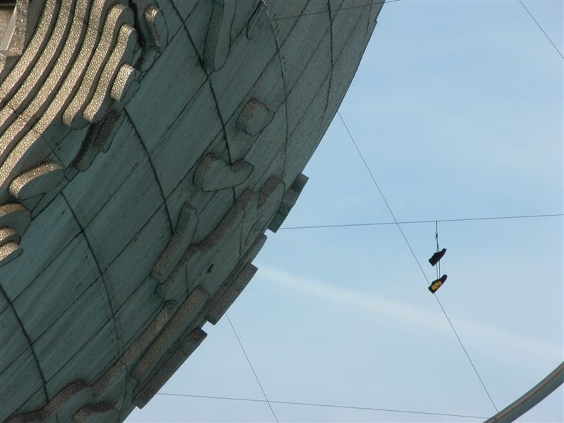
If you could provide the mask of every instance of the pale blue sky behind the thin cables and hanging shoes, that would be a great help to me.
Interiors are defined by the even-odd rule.
[[[526,1],[564,50],[563,1]],[[398,221],[563,213],[563,59],[518,1],[386,4],[340,107]],[[283,226],[393,221],[335,117]],[[435,224],[404,224],[427,277]],[[281,229],[229,309],[269,399],[491,417],[397,226]],[[439,223],[438,296],[498,409],[563,360],[562,217]],[[263,399],[226,318],[161,394]],[[521,422],[564,421],[563,388]],[[280,422],[480,422],[272,404]],[[273,422],[157,395],[127,422]]]

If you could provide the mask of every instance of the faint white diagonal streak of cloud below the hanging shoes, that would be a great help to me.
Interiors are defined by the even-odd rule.
[[[423,329],[442,333],[451,331],[440,310],[432,313],[417,305],[376,296],[373,293],[329,286],[311,278],[293,275],[268,266],[259,266],[259,274],[263,278],[268,278],[288,288],[325,298],[328,301],[335,301],[340,305],[349,305],[357,310],[366,310],[368,313],[381,315],[387,320],[391,319],[399,324],[409,325],[414,330]],[[463,341],[466,346],[472,350],[478,349],[484,355],[499,362],[509,364],[508,361],[511,361],[514,365],[522,365],[530,362],[558,363],[562,360],[563,348],[561,345],[510,333],[492,325],[453,318],[451,315],[449,317],[459,334],[464,335]],[[511,354],[508,354],[509,351]]]

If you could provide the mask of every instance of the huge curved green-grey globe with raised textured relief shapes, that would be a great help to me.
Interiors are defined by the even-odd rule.
[[[308,180],[352,6],[0,4],[0,422],[121,422],[202,343]]]

